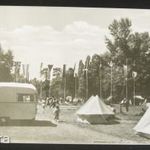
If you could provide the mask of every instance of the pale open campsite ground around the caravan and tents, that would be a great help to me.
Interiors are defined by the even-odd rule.
[[[136,134],[133,129],[143,116],[142,106],[130,106],[129,112],[116,109],[115,120],[109,123],[89,124],[77,121],[80,105],[60,105],[60,120],[50,120],[50,109],[39,105],[37,121],[11,121],[0,125],[0,133],[10,137],[12,143],[62,143],[62,144],[148,144],[149,139]]]

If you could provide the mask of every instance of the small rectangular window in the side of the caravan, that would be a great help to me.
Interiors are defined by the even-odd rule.
[[[18,102],[33,102],[34,95],[32,94],[18,94]]]

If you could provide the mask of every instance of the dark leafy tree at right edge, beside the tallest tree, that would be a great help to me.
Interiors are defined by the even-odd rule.
[[[137,72],[136,91],[143,96],[150,96],[150,36],[149,33],[135,33],[132,35],[131,48],[134,63],[132,70]]]

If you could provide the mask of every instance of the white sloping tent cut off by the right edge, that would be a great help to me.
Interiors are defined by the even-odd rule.
[[[134,127],[134,130],[144,137],[150,138],[150,107]]]

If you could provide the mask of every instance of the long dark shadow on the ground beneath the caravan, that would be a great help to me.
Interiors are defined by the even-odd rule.
[[[39,121],[39,120],[8,120],[6,122],[0,122],[0,126],[50,126],[56,127],[57,124],[51,121]]]

